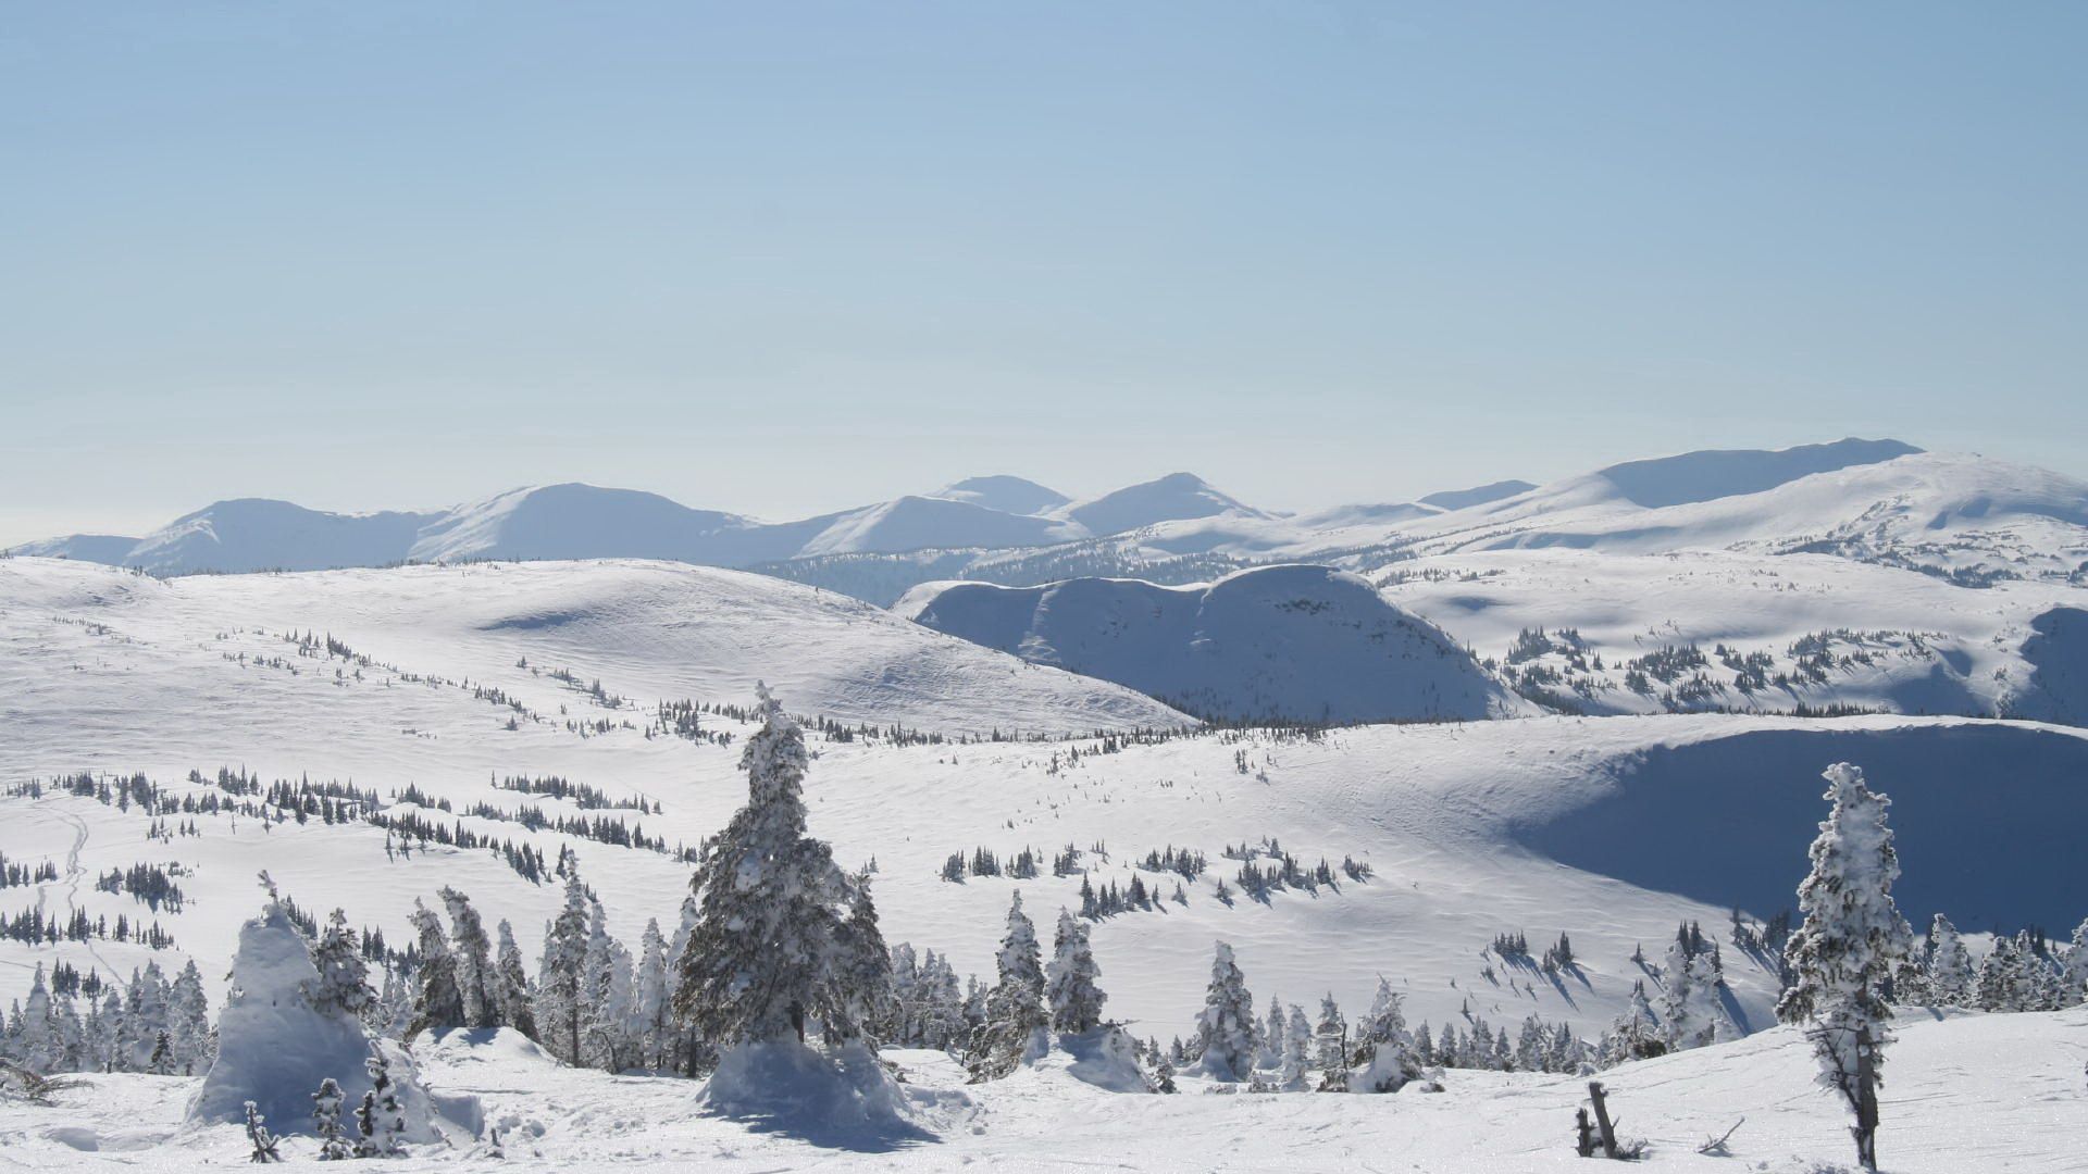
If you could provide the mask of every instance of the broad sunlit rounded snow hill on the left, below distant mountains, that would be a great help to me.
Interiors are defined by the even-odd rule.
[[[637,721],[662,700],[741,702],[766,679],[800,712],[935,731],[1092,731],[1186,719],[1130,689],[1025,664],[869,604],[777,579],[668,562],[399,566],[305,574],[150,579],[58,560],[0,560],[10,648],[33,664],[52,633],[86,633],[98,662],[123,666],[132,696],[65,698],[65,675],[21,685],[104,717],[230,702],[251,689],[244,662],[296,658],[286,633],[332,637],[403,677],[441,677],[516,698],[539,714],[599,710]],[[61,641],[63,645],[65,641]],[[572,677],[570,681],[553,675]],[[608,700],[587,696],[599,681]],[[347,689],[347,685],[342,685]],[[340,698],[359,698],[347,689]],[[436,689],[436,696],[447,696]],[[267,702],[257,702],[265,710]],[[355,708],[353,704],[349,706]],[[509,706],[472,712],[501,717]],[[399,714],[382,712],[390,723]],[[255,714],[276,721],[280,714]],[[228,714],[219,721],[238,721]],[[411,721],[401,719],[411,725]]]

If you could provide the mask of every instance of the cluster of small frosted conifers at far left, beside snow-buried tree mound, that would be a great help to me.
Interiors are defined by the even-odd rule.
[[[8,1007],[0,1026],[0,1057],[29,1072],[155,1072],[186,1076],[217,1051],[209,999],[196,963],[173,980],[146,963],[129,984],[79,978],[67,967],[46,978],[42,965],[29,999]]]

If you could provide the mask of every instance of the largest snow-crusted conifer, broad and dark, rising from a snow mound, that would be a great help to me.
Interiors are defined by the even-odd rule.
[[[760,689],[748,737],[748,804],[708,842],[691,890],[699,911],[677,959],[674,1011],[712,1047],[858,1038],[841,928],[852,892],[833,850],[806,836],[806,748],[798,721]]]

